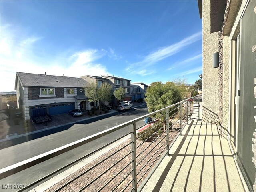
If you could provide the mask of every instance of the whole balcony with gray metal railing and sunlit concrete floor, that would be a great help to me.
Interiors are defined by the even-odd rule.
[[[18,191],[244,191],[228,141],[220,136],[216,124],[201,120],[201,101],[183,100],[3,168],[1,182],[125,128],[121,138]],[[153,115],[158,118],[148,122],[148,128],[136,125]],[[151,136],[142,140],[149,132]]]

